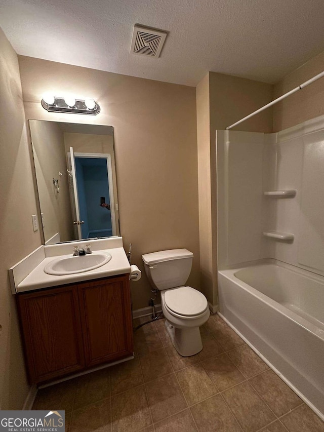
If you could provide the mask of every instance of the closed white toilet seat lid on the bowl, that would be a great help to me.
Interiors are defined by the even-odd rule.
[[[191,287],[166,290],[164,305],[171,315],[189,320],[204,315],[208,309],[204,294]]]

